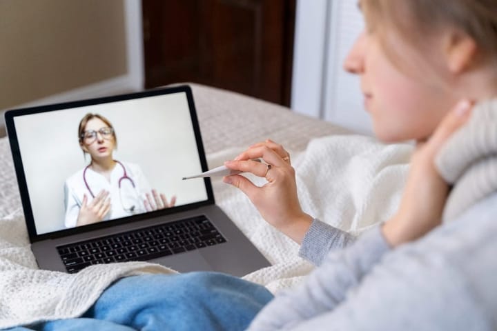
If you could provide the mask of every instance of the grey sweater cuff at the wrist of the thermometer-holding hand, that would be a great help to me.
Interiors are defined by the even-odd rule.
[[[314,265],[320,265],[331,250],[347,247],[354,241],[355,237],[348,232],[313,219],[311,227],[302,240],[298,254]]]

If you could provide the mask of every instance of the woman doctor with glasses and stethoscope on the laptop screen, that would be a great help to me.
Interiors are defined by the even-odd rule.
[[[138,165],[113,159],[117,137],[110,121],[86,114],[79,122],[79,146],[91,161],[66,180],[66,228],[175,205],[152,190]]]

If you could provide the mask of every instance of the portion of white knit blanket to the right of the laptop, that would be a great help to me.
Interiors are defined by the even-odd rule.
[[[386,221],[398,208],[412,150],[353,135],[313,139],[304,152],[291,153],[303,210],[353,234]],[[220,165],[239,151],[213,154],[209,164]],[[249,178],[257,185],[265,183]],[[244,279],[277,292],[309,274],[313,265],[298,257],[299,245],[266,223],[242,192],[221,179],[213,187],[217,204],[272,264]]]

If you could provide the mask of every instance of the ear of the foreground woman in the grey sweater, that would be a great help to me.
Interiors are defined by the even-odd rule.
[[[476,57],[476,42],[462,32],[453,32],[447,35],[446,40],[447,69],[452,74],[460,74],[471,66],[471,62]]]

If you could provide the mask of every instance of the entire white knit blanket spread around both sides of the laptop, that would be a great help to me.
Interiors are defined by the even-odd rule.
[[[243,149],[209,154],[208,163],[211,168],[220,165]],[[354,234],[385,221],[399,203],[411,150],[409,145],[384,146],[353,135],[312,140],[304,152],[292,152],[302,208]],[[1,175],[6,173],[3,170]],[[12,176],[12,170],[8,175]],[[264,184],[264,179],[251,178]],[[37,270],[17,187],[12,179],[0,179],[11,183],[10,187],[2,185],[0,205],[0,328],[77,317],[115,279],[143,272],[171,272],[138,262],[94,265],[78,274]],[[277,292],[295,285],[311,271],[313,266],[298,257],[298,245],[268,225],[242,192],[220,179],[213,181],[213,188],[217,204],[272,264],[245,279]]]

